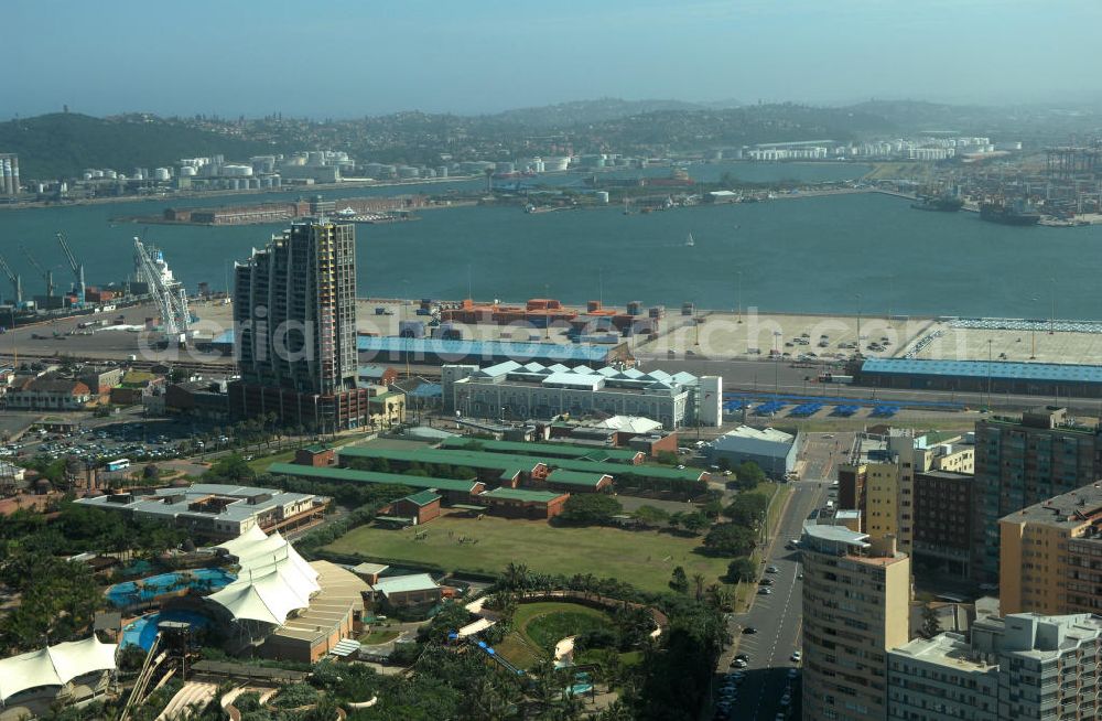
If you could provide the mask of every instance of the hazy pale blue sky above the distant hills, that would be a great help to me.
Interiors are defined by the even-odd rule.
[[[3,0],[0,116],[1100,97],[1102,0]]]

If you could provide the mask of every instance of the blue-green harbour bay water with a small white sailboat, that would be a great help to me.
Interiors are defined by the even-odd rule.
[[[714,180],[725,171],[754,181],[860,176],[861,166],[715,164],[691,169]],[[665,174],[668,171],[662,171]],[[562,182],[573,182],[562,176]],[[431,192],[480,181],[430,186]],[[402,189],[325,192],[331,198]],[[294,197],[300,193],[282,195]],[[271,200],[278,195],[257,196]],[[180,205],[252,202],[212,197]],[[22,243],[67,287],[54,234],[65,233],[86,266],[89,284],[125,278],[131,238],[141,226],[110,224],[152,214],[164,201],[0,212],[0,255],[22,272],[28,294],[43,282],[19,250]],[[1014,228],[972,213],[922,213],[884,195],[777,200],[624,215],[618,208],[527,215],[517,208],[429,211],[413,223],[357,228],[359,294],[523,301],[548,294],[569,302],[603,297],[673,305],[765,311],[863,312],[1047,318],[1102,318],[1102,226]],[[225,287],[228,268],[263,245],[279,226],[149,226],[190,289]],[[684,246],[693,234],[695,247]],[[9,294],[0,279],[2,294]]]

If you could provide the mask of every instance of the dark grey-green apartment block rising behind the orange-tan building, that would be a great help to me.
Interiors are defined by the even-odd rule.
[[[973,578],[998,582],[1001,518],[1100,477],[1099,429],[1077,424],[1063,408],[977,422]]]

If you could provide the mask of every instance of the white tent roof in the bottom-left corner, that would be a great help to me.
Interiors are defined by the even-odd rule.
[[[95,635],[0,660],[0,701],[39,686],[64,686],[93,671],[115,670],[116,644]]]

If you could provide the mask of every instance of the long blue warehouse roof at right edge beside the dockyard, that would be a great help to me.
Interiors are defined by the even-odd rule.
[[[1007,360],[917,360],[912,358],[868,358],[861,372],[915,376],[960,376],[996,380],[1102,384],[1102,366],[1059,363],[1015,363]]]

